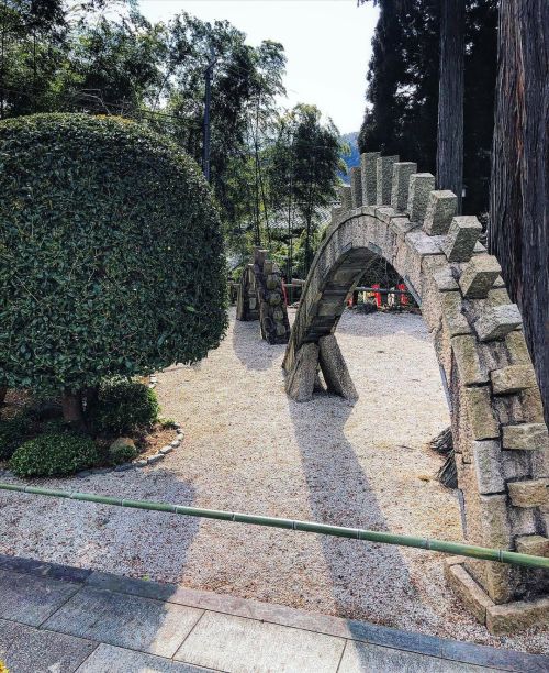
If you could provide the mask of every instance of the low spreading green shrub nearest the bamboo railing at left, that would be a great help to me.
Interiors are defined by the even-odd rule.
[[[10,468],[21,477],[64,476],[91,467],[98,457],[97,446],[89,437],[51,432],[16,449]]]

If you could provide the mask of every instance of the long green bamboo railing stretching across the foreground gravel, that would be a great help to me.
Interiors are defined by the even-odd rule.
[[[390,532],[377,530],[363,530],[361,528],[346,528],[343,526],[328,526],[315,523],[314,521],[294,521],[292,519],[279,519],[276,517],[257,517],[254,515],[239,514],[236,511],[223,511],[217,509],[203,509],[201,507],[187,507],[172,505],[170,503],[155,503],[150,500],[127,500],[125,498],[112,498],[93,493],[78,493],[41,488],[40,486],[20,486],[18,484],[5,484],[0,482],[0,490],[27,493],[33,495],[49,496],[56,498],[68,498],[71,500],[83,500],[99,505],[113,505],[115,507],[131,507],[133,509],[146,509],[149,511],[166,511],[169,514],[183,515],[187,517],[200,517],[204,519],[219,519],[222,521],[234,521],[236,523],[251,523],[254,526],[269,526],[271,528],[284,528],[301,532],[313,532],[336,538],[350,538],[368,542],[380,542],[382,544],[399,544],[402,547],[415,547],[429,551],[438,551],[445,554],[459,556],[471,556],[485,561],[497,561],[498,563],[511,563],[526,567],[542,567],[549,570],[549,559],[534,556],[531,554],[519,554],[517,552],[501,549],[489,549],[486,547],[474,547],[472,544],[460,544],[459,542],[447,542],[445,540],[430,540],[428,538],[416,538],[413,536],[397,536]]]

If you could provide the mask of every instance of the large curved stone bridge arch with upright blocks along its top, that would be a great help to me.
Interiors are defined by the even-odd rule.
[[[384,257],[417,299],[448,394],[464,534],[469,542],[549,555],[549,448],[541,399],[495,257],[456,196],[435,190],[415,164],[362,155],[341,190],[309,273],[283,367],[296,401],[356,390],[335,331],[345,299],[372,255]],[[367,355],[367,354],[365,354]],[[493,632],[549,619],[549,573],[475,561],[447,577]]]

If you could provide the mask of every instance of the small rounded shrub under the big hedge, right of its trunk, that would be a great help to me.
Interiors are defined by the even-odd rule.
[[[94,426],[99,432],[131,432],[158,418],[156,394],[133,380],[104,382],[99,389]]]

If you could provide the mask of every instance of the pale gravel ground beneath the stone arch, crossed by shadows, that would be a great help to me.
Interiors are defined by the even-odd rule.
[[[425,446],[449,418],[421,317],[347,311],[337,335],[352,407],[289,400],[284,346],[232,320],[200,365],[158,375],[180,449],[141,471],[42,483],[461,540],[457,497],[432,478],[441,460]],[[0,552],[549,652],[547,630],[489,636],[446,587],[441,556],[418,550],[0,493]]]

